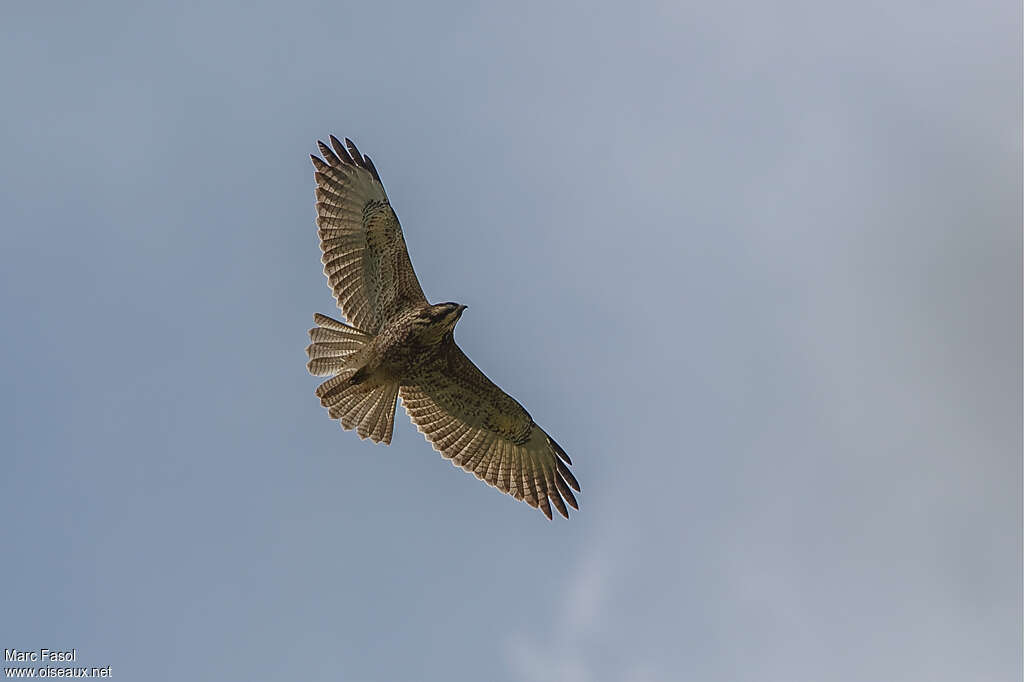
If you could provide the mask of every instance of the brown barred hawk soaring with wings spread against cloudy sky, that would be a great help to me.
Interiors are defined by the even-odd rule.
[[[313,315],[306,348],[321,404],[360,438],[391,442],[396,397],[441,457],[540,509],[579,509],[572,464],[456,345],[466,309],[427,302],[370,157],[331,135],[310,155],[324,274],[348,324]],[[333,147],[333,148],[332,148]],[[570,489],[571,488],[571,489]],[[550,504],[549,504],[550,501]]]

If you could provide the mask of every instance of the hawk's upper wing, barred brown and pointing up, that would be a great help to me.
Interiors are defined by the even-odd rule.
[[[317,143],[324,159],[311,158],[324,274],[349,324],[377,334],[406,307],[427,299],[370,157],[347,138],[348,148],[334,135],[334,150]]]

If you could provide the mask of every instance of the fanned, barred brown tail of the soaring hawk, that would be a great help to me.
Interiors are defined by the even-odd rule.
[[[366,379],[352,361],[373,337],[319,313],[313,321],[317,327],[309,330],[306,367],[316,376],[334,375],[316,387],[321,404],[344,429],[356,429],[360,438],[390,443],[398,384]]]

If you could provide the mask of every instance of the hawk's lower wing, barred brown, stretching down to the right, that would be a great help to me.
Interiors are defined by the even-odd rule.
[[[568,518],[580,484],[558,443],[534,423],[522,406],[466,357],[452,337],[444,352],[398,389],[413,423],[453,464],[503,493],[539,508],[551,504]]]

